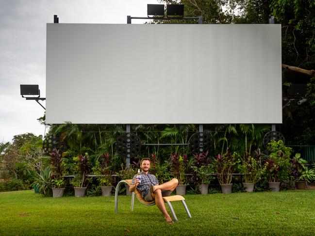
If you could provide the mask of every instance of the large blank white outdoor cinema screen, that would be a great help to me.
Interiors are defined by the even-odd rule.
[[[46,123],[282,123],[281,25],[47,24]]]

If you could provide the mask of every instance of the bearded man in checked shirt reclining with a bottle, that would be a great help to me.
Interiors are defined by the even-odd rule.
[[[159,182],[155,175],[149,174],[151,161],[149,158],[143,158],[140,161],[141,168],[141,183],[138,180],[137,175],[133,176],[133,182],[130,185],[129,190],[134,192],[135,189],[141,193],[142,197],[147,202],[152,202],[155,200],[155,204],[159,210],[164,215],[167,223],[172,224],[174,221],[168,215],[166,207],[162,198],[162,190],[174,190],[178,185],[177,179],[172,179],[164,184],[159,185]]]

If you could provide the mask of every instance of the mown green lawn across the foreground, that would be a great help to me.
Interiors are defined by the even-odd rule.
[[[0,235],[314,235],[315,191],[185,195],[179,221],[168,225],[156,206],[119,196],[44,198],[32,190],[0,193]],[[167,206],[166,206],[167,208]]]

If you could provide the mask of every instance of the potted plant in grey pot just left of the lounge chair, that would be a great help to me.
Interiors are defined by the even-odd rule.
[[[100,163],[99,163],[100,160]],[[99,174],[98,180],[102,190],[102,196],[110,196],[112,193],[112,171],[110,170],[110,156],[105,153],[96,161],[96,173]]]

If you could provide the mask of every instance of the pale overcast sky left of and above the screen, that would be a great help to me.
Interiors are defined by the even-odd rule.
[[[44,135],[44,109],[20,95],[20,84],[38,84],[46,95],[46,23],[125,24],[147,16],[157,0],[0,0],[0,142],[14,135]],[[133,19],[133,24],[143,20]],[[42,102],[45,107],[45,101]]]

